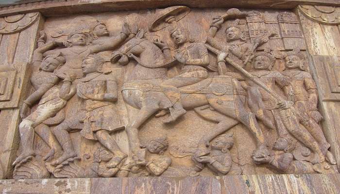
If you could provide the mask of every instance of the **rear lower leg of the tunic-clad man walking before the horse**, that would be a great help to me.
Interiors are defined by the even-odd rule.
[[[115,154],[110,162],[106,163],[106,167],[115,168],[124,158],[127,157],[125,153],[120,151],[115,139],[113,139],[113,137],[106,130],[97,131],[96,137],[103,146]]]

